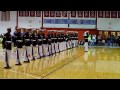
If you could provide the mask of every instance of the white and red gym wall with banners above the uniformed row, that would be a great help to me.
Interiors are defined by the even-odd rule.
[[[96,35],[99,32],[98,30],[120,31],[119,11],[117,13],[108,12],[45,11],[42,14],[42,11],[18,11],[18,13],[17,11],[10,11],[10,21],[1,21],[0,11],[0,34],[5,33],[8,27],[12,28],[13,33],[16,26],[18,28],[44,28],[46,30],[74,30],[78,31],[80,40],[84,39],[84,31],[90,31],[91,34]]]

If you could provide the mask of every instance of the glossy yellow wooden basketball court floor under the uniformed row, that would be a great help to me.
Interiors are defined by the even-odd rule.
[[[96,46],[84,52],[84,47],[79,46],[30,63],[22,61],[21,66],[11,60],[11,69],[3,69],[3,57],[0,55],[0,79],[120,78],[120,47]]]

